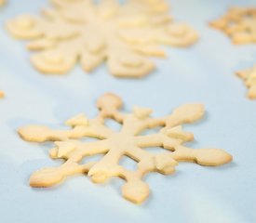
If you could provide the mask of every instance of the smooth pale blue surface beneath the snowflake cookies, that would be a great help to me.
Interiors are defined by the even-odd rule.
[[[36,14],[45,1],[9,0],[0,11],[4,22],[24,12]],[[36,72],[22,41],[0,30],[0,222],[256,222],[256,100],[234,74],[256,62],[256,46],[233,46],[222,33],[209,28],[231,5],[256,6],[256,1],[173,0],[172,14],[189,22],[200,34],[189,49],[167,47],[168,59],[155,59],[157,71],[141,80],[112,77],[104,66],[87,74],[77,66],[63,76]],[[106,91],[132,105],[166,115],[185,102],[201,102],[204,120],[187,125],[195,133],[194,148],[216,147],[230,152],[234,162],[210,168],[180,164],[177,173],[146,177],[152,193],[142,205],[120,195],[122,181],[95,185],[88,177],[70,177],[51,189],[32,189],[35,170],[60,162],[49,159],[52,144],[38,145],[19,138],[21,125],[61,127],[76,113],[96,114],[95,101]]]

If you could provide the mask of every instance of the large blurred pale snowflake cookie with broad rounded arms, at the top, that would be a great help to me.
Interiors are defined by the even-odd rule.
[[[79,60],[90,72],[104,60],[118,77],[141,77],[154,70],[150,56],[164,57],[159,45],[191,46],[197,34],[168,15],[164,0],[51,0],[41,17],[7,22],[15,37],[31,40],[31,61],[44,73],[66,73]]]

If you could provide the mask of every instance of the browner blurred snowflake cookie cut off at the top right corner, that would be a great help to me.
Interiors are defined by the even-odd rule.
[[[210,25],[230,36],[234,44],[256,43],[256,7],[231,7]]]

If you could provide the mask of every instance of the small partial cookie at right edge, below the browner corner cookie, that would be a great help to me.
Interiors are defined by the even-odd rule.
[[[256,65],[251,69],[236,72],[236,74],[244,80],[245,85],[249,88],[248,98],[256,99]]]

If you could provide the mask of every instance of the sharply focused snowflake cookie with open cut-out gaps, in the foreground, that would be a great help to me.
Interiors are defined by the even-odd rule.
[[[51,158],[64,159],[58,167],[36,171],[30,177],[32,187],[50,187],[74,174],[88,174],[95,183],[102,183],[110,177],[124,178],[123,196],[133,203],[143,202],[149,195],[149,186],[142,180],[150,172],[172,174],[178,162],[194,162],[201,165],[221,165],[231,162],[232,156],[220,149],[193,150],[182,144],[193,140],[192,133],[184,132],[182,124],[190,124],[202,118],[201,104],[185,104],[163,118],[150,116],[151,110],[135,107],[131,113],[119,112],[121,98],[108,93],[99,98],[99,115],[88,119],[79,114],[68,120],[70,130],[52,130],[43,125],[28,125],[19,129],[20,137],[27,141],[54,141]],[[106,125],[105,119],[113,119],[122,125],[115,132]],[[162,127],[152,135],[141,135],[146,129]],[[82,142],[79,138],[98,138],[97,141]],[[157,154],[144,148],[162,147],[165,152]],[[80,164],[83,158],[104,154],[99,162]],[[124,168],[119,161],[127,156],[138,162],[137,170]]]

